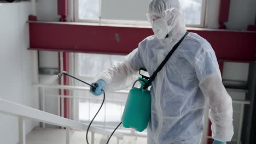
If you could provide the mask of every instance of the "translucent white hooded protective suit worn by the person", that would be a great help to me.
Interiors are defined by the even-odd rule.
[[[168,10],[175,8],[176,10]],[[168,37],[149,36],[133,50],[124,62],[103,71],[97,79],[106,82],[106,91],[130,86],[140,68],[152,75],[172,47],[183,37],[186,27],[178,0],[150,1],[147,16],[165,11]],[[226,92],[216,55],[196,33],[189,33],[151,87],[149,144],[199,144],[203,131],[203,113],[210,106],[212,137],[230,141],[233,135],[232,100]]]

